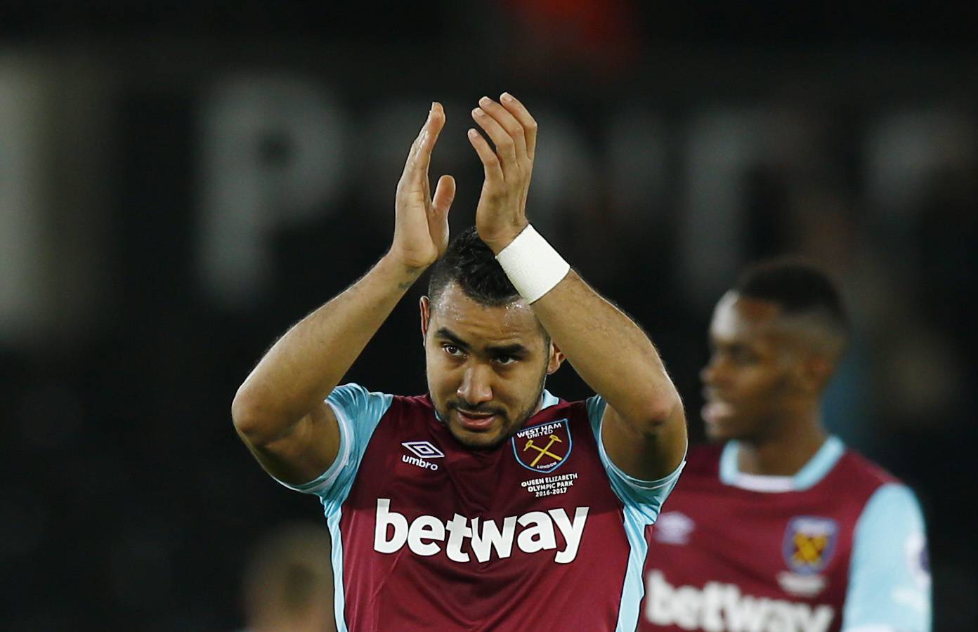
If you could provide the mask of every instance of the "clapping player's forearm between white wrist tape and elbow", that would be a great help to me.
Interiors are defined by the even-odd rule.
[[[581,378],[636,430],[654,433],[682,405],[645,332],[573,270],[533,311]]]

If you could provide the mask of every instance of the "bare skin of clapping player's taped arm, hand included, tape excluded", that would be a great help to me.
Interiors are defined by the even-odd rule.
[[[475,225],[498,255],[528,226],[537,125],[509,95],[479,105],[473,118],[496,149],[469,130],[485,171]],[[615,465],[645,481],[673,472],[686,452],[686,415],[642,329],[573,271],[532,307],[581,378],[607,402],[601,441]]]

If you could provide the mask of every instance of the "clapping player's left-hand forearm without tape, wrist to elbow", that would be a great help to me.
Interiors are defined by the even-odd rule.
[[[293,325],[239,388],[232,407],[239,431],[268,441],[319,405],[422,272],[385,256]]]

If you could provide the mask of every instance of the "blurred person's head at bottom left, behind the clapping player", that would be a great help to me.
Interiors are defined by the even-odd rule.
[[[316,525],[264,537],[244,570],[244,632],[334,632],[330,549]]]

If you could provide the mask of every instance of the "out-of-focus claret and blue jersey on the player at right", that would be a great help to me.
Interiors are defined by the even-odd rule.
[[[641,630],[924,632],[930,574],[911,490],[836,438],[793,477],[690,448],[647,532]]]

